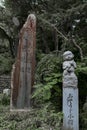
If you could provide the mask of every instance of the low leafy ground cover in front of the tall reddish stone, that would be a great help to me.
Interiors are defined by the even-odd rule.
[[[46,104],[45,104],[46,105]],[[31,109],[29,112],[9,112],[8,106],[0,105],[0,130],[60,130],[62,113],[44,109]]]

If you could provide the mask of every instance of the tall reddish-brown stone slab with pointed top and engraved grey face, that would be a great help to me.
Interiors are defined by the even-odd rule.
[[[17,59],[11,77],[10,110],[29,110],[34,84],[36,17],[30,14],[20,31]]]

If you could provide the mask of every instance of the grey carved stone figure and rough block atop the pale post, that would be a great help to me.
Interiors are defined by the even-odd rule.
[[[63,87],[77,87],[77,76],[75,75],[76,63],[71,51],[63,54]]]

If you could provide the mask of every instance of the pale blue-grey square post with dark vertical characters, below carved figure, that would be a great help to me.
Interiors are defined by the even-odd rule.
[[[79,130],[78,88],[63,88],[63,130]]]

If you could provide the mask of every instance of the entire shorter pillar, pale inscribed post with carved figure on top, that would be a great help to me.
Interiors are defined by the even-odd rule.
[[[63,130],[79,130],[78,80],[71,51],[63,54]]]

